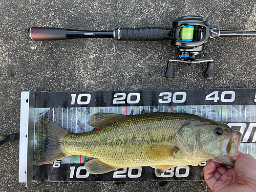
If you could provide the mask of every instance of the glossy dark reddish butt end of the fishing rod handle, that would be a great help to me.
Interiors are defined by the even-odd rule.
[[[64,40],[66,29],[32,27],[29,29],[29,37],[32,40]]]

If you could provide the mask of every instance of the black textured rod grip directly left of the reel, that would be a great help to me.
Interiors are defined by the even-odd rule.
[[[116,28],[116,40],[139,40],[139,41],[155,41],[168,39],[167,28],[162,27],[142,27],[142,28]]]

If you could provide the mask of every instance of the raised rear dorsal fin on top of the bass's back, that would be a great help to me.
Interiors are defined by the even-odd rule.
[[[111,122],[114,119],[117,119],[118,117],[121,117],[121,116],[125,116],[125,115],[114,114],[114,113],[95,113],[89,118],[87,123],[90,126],[93,126],[99,129],[103,124]]]

